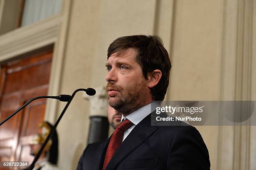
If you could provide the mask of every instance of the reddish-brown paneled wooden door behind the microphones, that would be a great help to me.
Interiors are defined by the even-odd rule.
[[[29,99],[46,96],[51,70],[52,49],[15,60],[2,66],[0,76],[0,120]],[[28,142],[40,133],[46,99],[33,101],[0,127],[0,161],[31,161]]]

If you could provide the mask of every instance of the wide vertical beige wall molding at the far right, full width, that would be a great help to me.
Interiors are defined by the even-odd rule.
[[[251,100],[253,0],[224,0],[220,100]],[[220,127],[218,169],[250,170],[250,126]]]

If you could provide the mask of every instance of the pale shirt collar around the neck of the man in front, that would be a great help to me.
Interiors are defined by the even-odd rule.
[[[150,104],[147,104],[134,112],[128,114],[126,117],[122,114],[121,120],[123,121],[124,119],[130,120],[133,124],[137,125],[141,120],[143,120],[148,114],[153,112],[156,107],[159,107],[160,104],[157,102],[152,102]]]

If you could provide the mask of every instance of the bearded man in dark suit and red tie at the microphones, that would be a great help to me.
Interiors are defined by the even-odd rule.
[[[169,85],[171,62],[157,36],[125,36],[108,48],[108,102],[122,113],[111,137],[84,150],[78,170],[209,170],[207,147],[195,127],[152,126]]]

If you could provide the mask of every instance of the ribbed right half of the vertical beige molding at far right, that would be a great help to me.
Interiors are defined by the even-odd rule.
[[[253,0],[238,1],[238,31],[236,55],[236,96],[235,100],[251,100],[251,59]],[[250,126],[236,126],[234,140],[234,169],[249,170]]]

